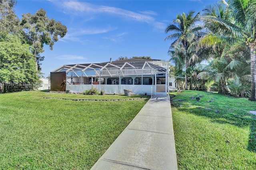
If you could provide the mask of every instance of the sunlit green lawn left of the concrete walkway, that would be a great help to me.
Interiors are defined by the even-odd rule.
[[[90,169],[149,97],[52,94],[0,95],[0,169]]]

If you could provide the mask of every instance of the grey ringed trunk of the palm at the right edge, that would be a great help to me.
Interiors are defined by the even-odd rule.
[[[251,51],[251,76],[252,76],[252,92],[250,101],[256,101],[256,54],[254,51],[255,43],[250,44]]]

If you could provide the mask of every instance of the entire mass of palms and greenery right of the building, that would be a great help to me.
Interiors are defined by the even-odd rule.
[[[174,74],[184,75],[185,81],[190,77],[185,89],[187,83],[195,89],[192,81],[197,81],[202,89],[211,86],[219,93],[256,101],[256,1],[222,0],[206,7],[201,16],[192,14],[178,14],[166,28],[173,34],[165,38],[174,40],[169,49]],[[192,24],[196,18],[204,27]],[[200,35],[197,39],[192,30]],[[208,64],[199,58],[191,64],[193,55],[208,58]]]

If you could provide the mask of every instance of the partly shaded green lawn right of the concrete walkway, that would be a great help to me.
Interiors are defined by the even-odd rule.
[[[249,113],[255,102],[202,91],[171,94],[179,169],[256,169],[256,115]],[[198,94],[199,102],[190,99]]]

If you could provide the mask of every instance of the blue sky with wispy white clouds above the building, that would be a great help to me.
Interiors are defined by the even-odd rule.
[[[64,64],[100,63],[118,57],[150,56],[169,60],[170,40],[164,30],[176,15],[199,12],[216,0],[18,0],[15,12],[34,14],[40,8],[60,21],[68,33],[54,44],[44,46],[42,73]]]

